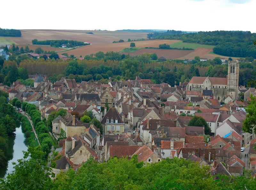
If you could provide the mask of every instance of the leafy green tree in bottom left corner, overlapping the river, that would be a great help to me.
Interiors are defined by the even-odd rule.
[[[28,147],[22,159],[14,164],[15,172],[9,173],[0,183],[0,189],[51,189],[51,169],[47,167],[45,152],[41,147]]]

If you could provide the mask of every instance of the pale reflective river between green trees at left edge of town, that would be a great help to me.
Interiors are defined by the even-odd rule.
[[[22,151],[27,151],[28,147],[24,144],[24,134],[21,131],[21,126],[19,128],[16,128],[15,131],[15,139],[14,139],[14,145],[13,145],[13,149],[9,148],[10,151],[13,151],[13,157],[11,160],[8,161],[8,165],[6,167],[0,168],[0,177],[6,177],[8,173],[11,173],[12,171],[14,171],[13,169],[13,164],[12,162],[16,162],[17,160],[23,158],[23,152]],[[12,141],[10,139],[10,141]]]

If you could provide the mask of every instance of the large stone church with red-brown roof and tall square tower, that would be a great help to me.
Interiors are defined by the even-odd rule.
[[[229,95],[232,99],[238,99],[238,60],[228,61],[227,78],[219,77],[192,77],[187,85],[189,91],[212,90],[213,98],[224,102]]]

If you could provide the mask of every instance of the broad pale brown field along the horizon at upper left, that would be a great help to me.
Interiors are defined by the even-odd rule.
[[[147,33],[142,32],[119,32],[119,31],[91,31],[91,30],[20,30],[21,37],[10,37],[14,42],[20,45],[32,44],[33,39],[37,40],[77,40],[90,42],[92,44],[112,43],[128,38],[132,40],[147,38]],[[93,34],[86,34],[93,32]]]

